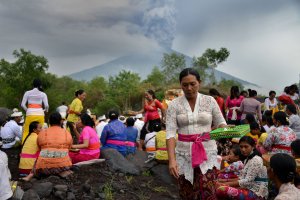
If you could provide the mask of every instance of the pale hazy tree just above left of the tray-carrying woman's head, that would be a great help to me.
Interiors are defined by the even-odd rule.
[[[186,68],[185,57],[178,53],[164,53],[162,59],[162,70],[166,83],[177,81],[179,73]]]

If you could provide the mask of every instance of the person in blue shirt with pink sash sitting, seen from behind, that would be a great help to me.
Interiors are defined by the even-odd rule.
[[[118,120],[119,113],[117,111],[109,111],[109,123],[104,126],[101,134],[101,150],[116,149],[123,156],[127,154],[127,135],[125,132],[125,125]]]

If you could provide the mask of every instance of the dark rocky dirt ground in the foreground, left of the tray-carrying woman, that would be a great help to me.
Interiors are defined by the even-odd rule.
[[[7,152],[9,168],[13,180],[18,180],[18,150]],[[145,171],[140,176],[111,172],[105,162],[76,167],[70,179],[49,177],[38,182],[50,181],[54,185],[68,185],[76,199],[179,199],[177,185],[166,184],[159,178]],[[22,189],[27,190],[32,183],[19,182]],[[86,191],[89,192],[86,192]],[[52,194],[47,199],[56,199]]]

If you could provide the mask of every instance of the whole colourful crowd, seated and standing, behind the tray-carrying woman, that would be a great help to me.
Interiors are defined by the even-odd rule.
[[[162,104],[154,92],[148,90],[144,108],[134,112],[134,116],[124,117],[119,111],[110,110],[95,118],[91,113],[83,112],[86,94],[79,90],[69,107],[63,102],[57,108],[58,112],[49,115],[49,128],[43,128],[41,110],[48,109],[47,95],[39,90],[40,81],[35,80],[33,86],[22,101],[26,111],[24,126],[22,112],[14,109],[10,120],[1,128],[0,175],[3,178],[0,199],[12,195],[10,189],[5,189],[10,187],[6,180],[10,173],[5,153],[9,154],[12,148],[20,149],[19,174],[25,181],[34,176],[67,177],[72,174],[73,164],[99,159],[106,149],[115,149],[124,157],[146,151],[148,160],[145,162],[153,159],[168,162],[165,111],[168,108],[166,102],[171,100]],[[220,166],[215,192],[218,198],[267,199],[270,182],[277,191],[276,200],[299,198],[297,92],[297,87],[290,86],[277,99],[276,93],[270,91],[269,97],[261,103],[255,90],[240,93],[239,88],[233,86],[226,101],[216,89],[210,90],[227,124],[250,126],[250,132],[241,138],[217,141]],[[40,95],[40,99],[34,95]]]

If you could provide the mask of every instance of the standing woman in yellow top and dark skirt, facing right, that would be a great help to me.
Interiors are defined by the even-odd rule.
[[[81,111],[83,110],[82,102],[86,97],[84,90],[77,90],[75,92],[75,99],[72,101],[69,106],[68,117],[67,117],[67,127],[70,129],[73,142],[77,144],[77,137],[74,130],[74,124],[79,121]]]

